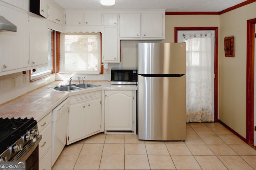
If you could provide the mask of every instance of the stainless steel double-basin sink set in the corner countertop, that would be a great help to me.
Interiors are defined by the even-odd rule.
[[[72,85],[65,85],[65,86],[60,85],[60,86],[50,87],[50,89],[57,92],[68,92],[68,91],[92,88],[97,86],[100,86],[100,85],[91,84],[91,83],[82,83],[82,84],[72,84]]]

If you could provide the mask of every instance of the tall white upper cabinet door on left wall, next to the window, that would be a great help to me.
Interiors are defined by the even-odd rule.
[[[30,16],[30,66],[46,66],[48,63],[48,25],[45,19]]]

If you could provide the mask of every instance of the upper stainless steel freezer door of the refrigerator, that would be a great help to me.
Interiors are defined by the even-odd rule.
[[[186,43],[138,43],[138,74],[186,74]]]

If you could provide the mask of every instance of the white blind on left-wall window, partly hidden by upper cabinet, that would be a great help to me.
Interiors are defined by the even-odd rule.
[[[36,68],[36,71],[31,71],[31,80],[36,79],[41,76],[45,76],[48,74],[52,74],[52,64],[54,59],[54,32],[52,30],[48,30],[48,65],[40,68]]]

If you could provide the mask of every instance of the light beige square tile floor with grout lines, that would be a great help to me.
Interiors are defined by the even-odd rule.
[[[253,170],[256,150],[220,123],[187,123],[186,141],[94,135],[66,146],[52,170]]]

